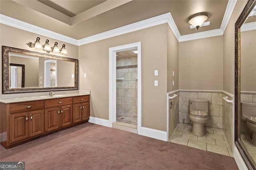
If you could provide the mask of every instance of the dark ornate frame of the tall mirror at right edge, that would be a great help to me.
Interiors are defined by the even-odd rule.
[[[235,145],[248,169],[256,169],[256,164],[248,154],[240,139],[240,101],[241,101],[241,26],[256,4],[256,0],[248,0],[235,23]]]

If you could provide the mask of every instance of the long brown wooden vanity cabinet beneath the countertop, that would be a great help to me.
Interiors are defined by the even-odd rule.
[[[89,95],[0,103],[1,142],[8,149],[42,135],[85,123],[90,117]]]

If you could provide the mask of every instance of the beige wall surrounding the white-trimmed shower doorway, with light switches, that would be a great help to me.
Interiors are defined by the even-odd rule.
[[[108,50],[142,44],[142,127],[166,131],[167,24],[79,46],[80,90],[91,90],[90,115],[108,119]],[[158,76],[154,76],[154,70]],[[84,78],[82,75],[87,74]],[[154,86],[158,80],[158,86]]]

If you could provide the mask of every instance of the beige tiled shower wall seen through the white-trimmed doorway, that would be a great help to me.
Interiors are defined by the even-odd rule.
[[[116,112],[137,115],[137,57],[116,60]]]

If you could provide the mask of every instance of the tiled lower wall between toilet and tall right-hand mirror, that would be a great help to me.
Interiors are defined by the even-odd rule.
[[[222,94],[223,97],[227,95]],[[232,100],[229,98],[229,100]],[[228,103],[223,99],[223,131],[227,137],[231,150],[233,149],[233,104]]]

